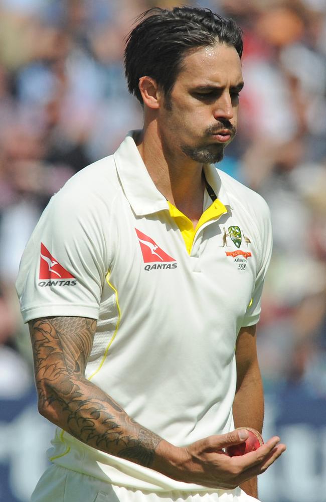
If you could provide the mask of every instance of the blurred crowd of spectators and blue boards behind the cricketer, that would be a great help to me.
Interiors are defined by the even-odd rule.
[[[24,246],[51,195],[114,152],[142,112],[124,37],[154,0],[0,0],[0,501],[25,502],[53,427],[37,413],[15,293]],[[188,0],[244,30],[240,126],[219,167],[267,200],[274,252],[258,350],[264,436],[287,452],[263,502],[326,502],[326,2]]]

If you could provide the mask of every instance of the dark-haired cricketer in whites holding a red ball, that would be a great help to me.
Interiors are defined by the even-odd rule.
[[[262,428],[271,253],[265,202],[210,165],[236,132],[241,54],[209,10],[145,13],[125,51],[143,130],[71,178],[27,245],[17,289],[58,426],[34,502],[245,502],[285,449],[224,450]]]

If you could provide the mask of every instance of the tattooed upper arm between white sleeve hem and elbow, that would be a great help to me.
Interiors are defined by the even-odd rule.
[[[64,373],[84,375],[96,328],[85,317],[44,317],[29,322],[35,378],[56,380]]]

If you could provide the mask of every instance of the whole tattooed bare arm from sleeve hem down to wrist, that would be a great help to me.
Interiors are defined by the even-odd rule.
[[[85,378],[95,328],[81,317],[30,322],[39,408],[80,441],[150,467],[161,438]]]

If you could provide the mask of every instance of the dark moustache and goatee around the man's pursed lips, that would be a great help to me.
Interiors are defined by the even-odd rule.
[[[215,124],[211,126],[205,131],[205,137],[209,138],[210,136],[217,134],[222,129],[228,129],[231,133],[231,140],[233,140],[236,135],[236,128],[232,126],[232,124],[226,120],[220,122],[220,124]],[[230,143],[230,142],[229,142]],[[216,164],[217,162],[221,162],[224,157],[224,148],[226,147],[223,143],[214,143],[214,144],[206,144],[200,145],[198,147],[190,147],[189,145],[182,145],[181,150],[184,152],[187,157],[190,159],[202,163],[202,164]]]

